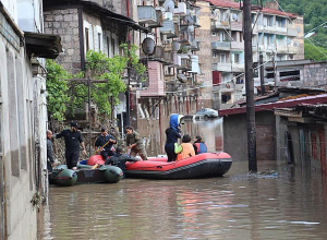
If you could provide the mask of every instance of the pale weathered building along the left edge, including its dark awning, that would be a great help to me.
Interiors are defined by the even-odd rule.
[[[44,60],[60,37],[43,33],[41,1],[0,1],[0,239],[37,239],[47,197]]]

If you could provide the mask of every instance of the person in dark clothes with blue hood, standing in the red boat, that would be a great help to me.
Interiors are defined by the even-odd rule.
[[[174,153],[174,144],[178,142],[178,139],[181,139],[181,118],[182,115],[173,113],[170,116],[169,128],[166,129],[166,144],[165,151],[168,157],[167,161],[174,161],[177,154]]]

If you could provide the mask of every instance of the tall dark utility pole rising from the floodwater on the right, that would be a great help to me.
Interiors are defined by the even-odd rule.
[[[246,129],[249,171],[257,171],[256,163],[256,130],[254,109],[254,81],[252,59],[252,21],[251,0],[243,1],[243,38],[245,51],[245,91],[246,91]]]

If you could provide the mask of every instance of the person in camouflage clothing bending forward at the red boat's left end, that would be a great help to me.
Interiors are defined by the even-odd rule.
[[[126,146],[131,151],[130,156],[135,157],[137,154],[143,160],[147,160],[145,147],[142,143],[140,134],[134,131],[132,125],[126,127]]]

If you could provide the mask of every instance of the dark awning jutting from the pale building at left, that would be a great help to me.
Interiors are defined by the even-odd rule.
[[[34,57],[56,59],[62,52],[59,35],[24,32],[24,38],[27,52]]]

